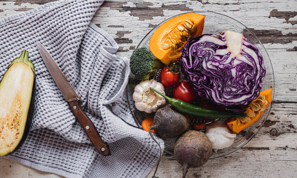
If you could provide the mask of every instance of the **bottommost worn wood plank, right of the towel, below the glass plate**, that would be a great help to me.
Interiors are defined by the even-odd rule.
[[[242,149],[227,157],[208,160],[199,168],[190,168],[187,178],[209,177],[296,177],[297,150]],[[153,167],[153,170],[156,166]],[[146,178],[153,176],[151,171]],[[182,166],[171,155],[162,156],[156,173],[159,178],[182,177]]]

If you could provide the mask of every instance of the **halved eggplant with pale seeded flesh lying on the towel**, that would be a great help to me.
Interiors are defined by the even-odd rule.
[[[0,82],[0,156],[10,155],[25,142],[35,102],[35,70],[29,52],[7,67]]]

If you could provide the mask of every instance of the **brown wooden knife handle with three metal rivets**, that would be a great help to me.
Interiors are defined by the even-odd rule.
[[[67,101],[69,106],[71,107],[74,115],[77,117],[81,126],[83,126],[83,130],[89,136],[89,139],[94,144],[96,150],[104,156],[111,155],[110,147],[108,144],[104,143],[101,136],[99,135],[97,128],[91,121],[91,119],[86,115],[86,113],[81,109],[81,101],[79,98],[73,98]]]

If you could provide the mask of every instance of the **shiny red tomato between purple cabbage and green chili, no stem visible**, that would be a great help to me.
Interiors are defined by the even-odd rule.
[[[173,89],[173,97],[187,103],[195,101],[197,96],[197,92],[186,80],[180,81]]]

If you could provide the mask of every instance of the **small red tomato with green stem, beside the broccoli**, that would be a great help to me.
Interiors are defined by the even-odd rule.
[[[172,71],[167,69],[167,66],[163,67],[160,72],[160,80],[165,87],[173,87],[180,79],[181,74],[173,74]]]

